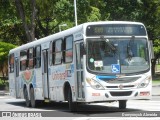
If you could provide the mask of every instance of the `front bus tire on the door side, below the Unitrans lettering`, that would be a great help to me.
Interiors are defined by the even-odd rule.
[[[72,101],[72,92],[70,88],[68,90],[68,104],[69,104],[69,110],[71,112],[77,111],[77,102]]]

